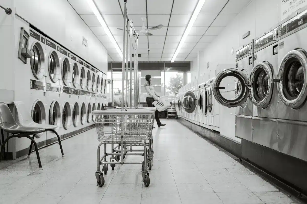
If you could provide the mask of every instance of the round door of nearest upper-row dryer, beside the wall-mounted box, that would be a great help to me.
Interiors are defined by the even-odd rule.
[[[31,70],[36,79],[41,79],[45,73],[45,55],[41,43],[33,43],[30,58]]]

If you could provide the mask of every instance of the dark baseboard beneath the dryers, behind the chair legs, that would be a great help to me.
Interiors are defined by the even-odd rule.
[[[61,141],[62,141],[62,140],[64,140],[64,139],[67,139],[67,138],[70,138],[70,137],[72,137],[72,136],[78,135],[78,134],[80,134],[80,133],[82,133],[82,132],[85,132],[85,131],[87,131],[87,130],[89,130],[89,129],[91,129],[91,128],[94,128],[94,127],[95,127],[95,124],[89,125],[89,126],[87,126],[87,127],[81,128],[81,129],[76,130],[76,131],[69,132],[68,134],[60,135],[60,139],[61,139]],[[31,143],[31,141],[29,140],[29,146],[30,146],[30,143]],[[52,145],[52,144],[54,144],[54,143],[58,143],[58,138],[57,138],[57,137],[54,137],[54,138],[52,138],[52,139],[48,139],[47,141],[41,141],[41,142],[37,143],[37,147],[38,147],[38,149],[41,149],[41,148],[47,147],[47,146],[49,146],[49,145]],[[16,152],[16,158],[19,158],[19,157],[22,157],[22,156],[25,156],[25,155],[29,154],[29,149],[30,149],[30,147],[25,148],[25,149],[23,149],[23,150],[17,151],[17,152]],[[33,151],[35,151],[34,145],[32,146],[32,152],[33,152]],[[59,151],[60,151],[60,150],[59,150]],[[63,151],[64,151],[64,153],[65,153],[64,147],[63,147]],[[7,157],[7,159],[10,159],[10,158]],[[13,159],[13,155],[12,155],[12,158],[11,158],[11,159]]]

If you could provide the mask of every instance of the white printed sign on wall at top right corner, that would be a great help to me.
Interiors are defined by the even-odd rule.
[[[279,19],[284,20],[304,6],[307,6],[307,0],[279,0]]]

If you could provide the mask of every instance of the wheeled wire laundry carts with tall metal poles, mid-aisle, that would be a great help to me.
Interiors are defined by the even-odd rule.
[[[97,151],[97,171],[95,173],[97,185],[100,187],[104,185],[103,173],[105,175],[107,174],[108,165],[114,170],[117,164],[141,164],[144,185],[148,187],[150,184],[147,167],[149,169],[152,168],[152,129],[156,108],[139,107],[138,33],[133,27],[132,20],[128,20],[126,0],[124,2],[122,107],[121,109],[93,111],[96,132],[100,142]],[[129,24],[130,26],[128,26]],[[134,62],[132,63],[132,61]],[[128,79],[128,70],[130,70],[130,79]],[[134,77],[132,76],[132,72],[134,72]],[[132,89],[132,80],[134,80],[134,89]],[[130,81],[129,85],[128,81]],[[133,92],[134,104],[132,103]],[[127,108],[128,106],[130,107],[129,109]],[[111,153],[107,153],[107,144],[111,144]],[[102,157],[100,157],[101,145],[104,145],[104,154]],[[114,145],[117,146],[114,147]],[[134,146],[143,148],[133,149]],[[143,161],[126,162],[124,159],[128,155],[142,156]],[[107,156],[111,156],[110,161],[107,161]],[[100,170],[100,165],[103,165],[102,171]]]

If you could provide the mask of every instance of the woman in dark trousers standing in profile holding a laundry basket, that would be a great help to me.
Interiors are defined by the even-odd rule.
[[[159,95],[157,95],[157,92],[154,90],[153,86],[151,86],[151,76],[148,74],[145,76],[146,83],[145,83],[145,90],[147,93],[146,102],[148,107],[153,107],[153,102],[157,101],[159,99]],[[165,124],[162,124],[159,119],[159,113],[158,110],[155,112],[155,118],[158,124],[158,127],[164,126]],[[154,127],[153,127],[154,128]]]

